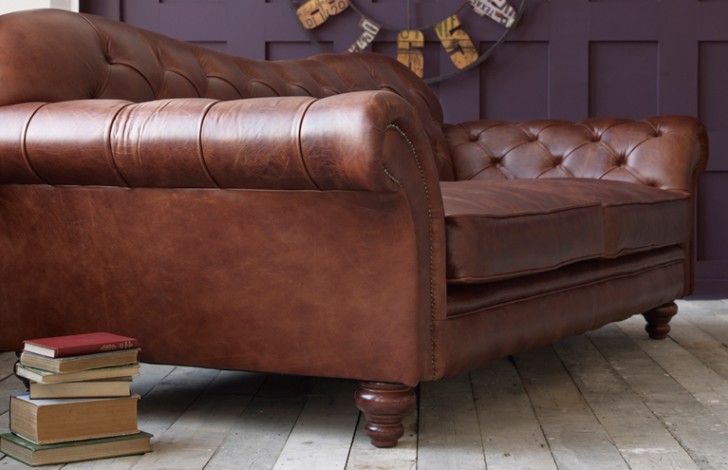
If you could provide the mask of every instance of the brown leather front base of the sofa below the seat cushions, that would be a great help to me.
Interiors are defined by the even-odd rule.
[[[683,295],[685,255],[680,248],[632,255],[632,260],[603,263],[583,274],[581,282],[540,289],[553,279],[531,279],[530,296],[508,299],[435,323],[432,377],[439,379],[473,370],[494,360],[584,333],[607,323],[648,312]],[[595,269],[592,264],[590,269]],[[630,267],[629,269],[627,267]],[[572,267],[576,271],[582,267]],[[565,273],[554,273],[554,277]],[[485,290],[484,290],[485,291]],[[462,293],[461,293],[462,294]],[[502,293],[501,293],[502,294]],[[475,296],[474,292],[469,293]],[[451,297],[451,296],[449,296]],[[451,299],[448,298],[448,301]],[[461,306],[462,306],[462,299]],[[469,299],[470,304],[476,300]]]

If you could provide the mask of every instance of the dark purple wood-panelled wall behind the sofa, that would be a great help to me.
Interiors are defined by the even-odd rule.
[[[381,24],[373,50],[396,55],[396,30],[431,25],[463,0],[351,0]],[[518,7],[521,0],[509,0]],[[728,0],[525,0],[523,19],[484,64],[433,85],[448,122],[489,118],[698,116],[711,160],[698,198],[697,292],[728,297]],[[297,4],[302,0],[296,0]],[[82,11],[252,58],[315,54],[289,0],[82,0]],[[481,51],[503,32],[459,13]],[[313,30],[345,51],[361,30],[348,9]],[[426,30],[425,77],[454,70]]]

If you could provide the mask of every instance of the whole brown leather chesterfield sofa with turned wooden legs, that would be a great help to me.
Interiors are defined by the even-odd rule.
[[[265,62],[55,10],[0,17],[0,348],[412,387],[691,292],[690,117],[443,124],[383,55]]]

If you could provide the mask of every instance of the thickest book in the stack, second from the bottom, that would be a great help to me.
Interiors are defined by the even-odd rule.
[[[139,395],[31,400],[10,397],[10,431],[35,444],[135,434]]]

